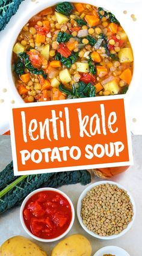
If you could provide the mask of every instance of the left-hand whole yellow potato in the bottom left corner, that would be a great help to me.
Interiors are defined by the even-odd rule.
[[[17,235],[5,241],[0,248],[1,256],[47,256],[36,243]]]

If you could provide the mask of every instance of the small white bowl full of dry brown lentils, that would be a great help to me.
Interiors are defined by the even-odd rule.
[[[103,240],[118,238],[128,232],[135,213],[131,194],[113,181],[91,184],[78,199],[77,216],[82,228]]]

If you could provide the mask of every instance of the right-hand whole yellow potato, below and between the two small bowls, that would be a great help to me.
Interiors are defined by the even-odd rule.
[[[51,256],[91,256],[90,242],[84,235],[70,235],[55,246]]]

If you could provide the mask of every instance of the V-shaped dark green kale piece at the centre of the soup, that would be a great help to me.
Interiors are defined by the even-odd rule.
[[[55,60],[60,60],[60,62],[67,68],[70,68],[72,64],[76,62],[77,59],[78,53],[72,53],[68,58],[61,56],[60,53],[57,53],[55,56]]]

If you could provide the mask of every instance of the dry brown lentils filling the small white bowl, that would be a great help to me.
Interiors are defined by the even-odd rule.
[[[82,199],[82,222],[100,236],[119,234],[131,222],[133,214],[128,193],[114,184],[97,185]]]

